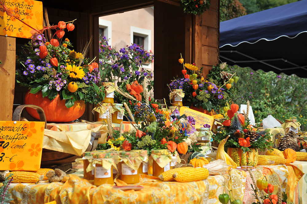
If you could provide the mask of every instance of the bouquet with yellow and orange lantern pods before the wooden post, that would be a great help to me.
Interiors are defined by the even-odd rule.
[[[183,59],[179,59],[183,64]],[[177,77],[170,84],[170,90],[182,89],[185,93],[183,98],[184,106],[194,106],[198,109],[217,111],[225,106],[227,99],[231,95],[231,83],[236,83],[239,77],[229,73],[229,79],[225,80],[221,75],[222,68],[226,64],[213,67],[207,78],[202,76],[202,68],[198,68],[194,63],[183,64],[181,70],[183,76]],[[228,77],[227,76],[227,77]],[[235,79],[232,79],[235,78]]]

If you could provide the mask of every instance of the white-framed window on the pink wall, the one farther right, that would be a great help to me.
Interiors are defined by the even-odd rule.
[[[144,49],[151,50],[151,30],[138,28],[131,26],[130,27],[130,42],[132,44],[142,45]],[[149,65],[142,64],[142,67],[151,69],[151,63]]]

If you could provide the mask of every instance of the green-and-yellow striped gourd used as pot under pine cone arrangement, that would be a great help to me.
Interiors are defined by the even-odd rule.
[[[227,154],[238,166],[257,166],[258,149],[250,148],[251,151],[243,153],[241,148],[228,148]]]

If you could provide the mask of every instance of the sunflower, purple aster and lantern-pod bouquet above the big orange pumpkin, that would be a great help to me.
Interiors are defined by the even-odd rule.
[[[74,29],[73,21],[46,27],[55,31],[52,39],[46,40],[43,33],[33,34],[29,44],[24,46],[24,56],[16,72],[16,81],[29,87],[31,94],[41,91],[43,97],[52,99],[59,94],[66,99],[65,106],[74,106],[75,101],[98,103],[104,98],[104,91],[98,87],[99,65],[85,58],[86,53],[76,52],[68,38],[63,38],[65,29]]]

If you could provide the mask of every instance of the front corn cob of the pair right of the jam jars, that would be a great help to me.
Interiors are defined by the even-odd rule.
[[[209,171],[206,168],[188,168],[183,167],[181,171],[177,171],[173,174],[173,178],[178,182],[192,182],[207,179]]]

